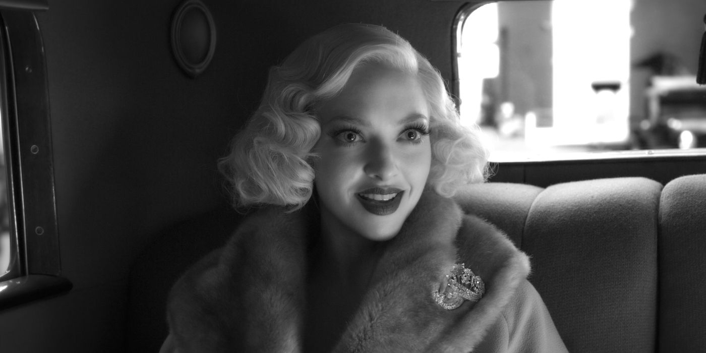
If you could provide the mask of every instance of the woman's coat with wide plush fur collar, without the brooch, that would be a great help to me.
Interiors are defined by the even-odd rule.
[[[172,288],[162,352],[301,352],[316,214],[270,207],[249,215]],[[486,292],[445,310],[431,293],[454,263],[481,276]],[[527,256],[504,234],[425,191],[333,352],[566,351],[529,272]]]

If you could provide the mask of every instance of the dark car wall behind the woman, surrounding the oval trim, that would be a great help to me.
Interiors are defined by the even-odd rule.
[[[306,37],[342,22],[385,25],[451,80],[460,2],[203,0],[217,46],[196,78],[170,47],[181,2],[49,1],[37,13],[73,289],[3,311],[3,352],[125,351],[131,263],[161,229],[226,203],[215,162],[256,109],[268,68]]]

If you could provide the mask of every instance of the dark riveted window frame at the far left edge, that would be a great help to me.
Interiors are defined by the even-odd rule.
[[[32,11],[0,1],[0,114],[10,209],[11,269],[0,277],[0,310],[67,292],[61,277],[44,44]],[[30,11],[28,11],[30,10]]]

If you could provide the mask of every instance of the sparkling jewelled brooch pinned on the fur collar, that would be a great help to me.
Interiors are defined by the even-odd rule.
[[[464,300],[478,301],[485,293],[485,283],[465,263],[453,265],[450,275],[446,275],[448,284],[443,293],[435,290],[431,293],[436,304],[443,309],[451,310],[463,304]]]

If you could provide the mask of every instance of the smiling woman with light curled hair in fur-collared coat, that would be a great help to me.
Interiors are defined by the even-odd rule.
[[[220,167],[258,209],[174,286],[162,351],[566,350],[527,256],[462,214],[486,152],[393,32],[301,44]]]

